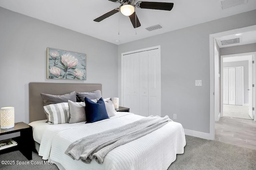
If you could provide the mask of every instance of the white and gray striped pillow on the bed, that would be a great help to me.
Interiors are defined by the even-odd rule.
[[[68,103],[57,103],[44,106],[44,111],[48,116],[49,124],[61,124],[69,122],[69,107]]]

